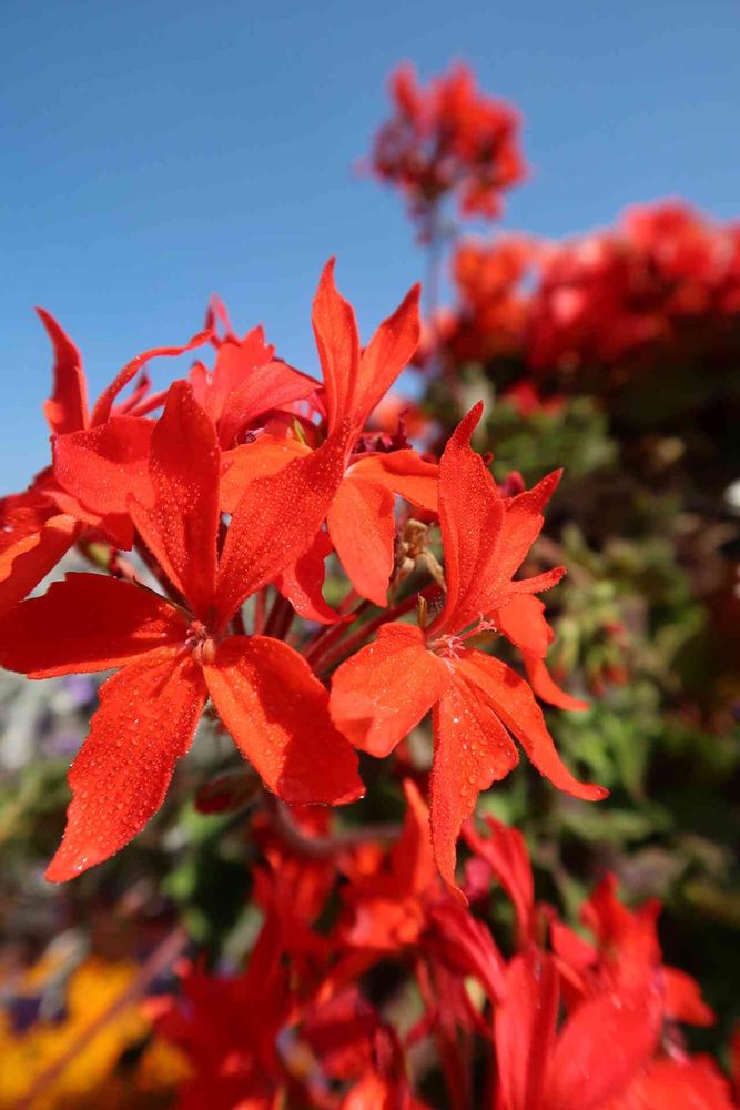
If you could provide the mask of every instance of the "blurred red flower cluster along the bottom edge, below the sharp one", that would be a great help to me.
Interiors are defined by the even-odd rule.
[[[404,790],[389,848],[332,844],[300,811],[287,828],[265,824],[264,921],[246,969],[191,966],[181,997],[149,1003],[190,1066],[182,1110],[730,1110],[714,1061],[687,1050],[681,1027],[714,1019],[695,980],[663,963],[657,902],[627,909],[607,875],[581,907],[588,938],[576,934],[536,901],[521,834],[488,818],[485,833],[465,826],[465,907],[437,874],[417,787]],[[491,906],[514,919],[505,947]],[[372,997],[361,983],[378,968]],[[399,1023],[389,1015],[409,983],[419,1008]]]

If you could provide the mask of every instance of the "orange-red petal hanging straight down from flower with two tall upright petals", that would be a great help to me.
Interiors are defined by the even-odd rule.
[[[391,491],[376,482],[346,477],[336,492],[326,523],[352,585],[361,597],[385,607],[396,534]]]

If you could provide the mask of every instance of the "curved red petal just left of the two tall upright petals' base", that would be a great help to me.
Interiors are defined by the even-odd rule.
[[[225,343],[220,347],[219,357],[225,355],[231,346],[231,343]],[[294,401],[304,401],[318,387],[313,377],[284,362],[259,366],[226,397],[219,422],[219,442],[222,447],[232,447],[244,428],[257,417]]]

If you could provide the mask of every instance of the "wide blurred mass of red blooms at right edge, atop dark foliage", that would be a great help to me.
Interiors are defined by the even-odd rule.
[[[564,243],[464,241],[454,276],[459,304],[439,334],[457,362],[515,356],[540,381],[582,387],[597,373],[606,391],[677,360],[737,360],[740,228],[683,203],[636,206]]]

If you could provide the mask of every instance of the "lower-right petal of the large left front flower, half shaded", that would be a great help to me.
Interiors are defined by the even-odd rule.
[[[357,757],[328,715],[328,695],[282,640],[231,636],[204,667],[234,743],[284,801],[338,806],[364,794]]]

